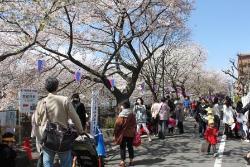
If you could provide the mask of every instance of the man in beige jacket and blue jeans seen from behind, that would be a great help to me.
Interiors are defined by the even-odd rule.
[[[71,119],[75,124],[78,134],[83,134],[81,121],[71,104],[68,97],[57,95],[59,81],[57,78],[48,77],[45,81],[45,89],[49,92],[48,96],[40,100],[35,111],[35,124],[38,126],[39,133],[37,139],[41,141],[41,136],[46,128],[47,120],[52,123],[58,123],[67,128],[68,120]],[[46,111],[47,110],[47,111]],[[48,117],[47,114],[48,112]],[[70,167],[72,164],[71,149],[65,152],[55,152],[42,147],[43,165],[44,167],[53,167],[55,154],[58,154],[61,167]]]

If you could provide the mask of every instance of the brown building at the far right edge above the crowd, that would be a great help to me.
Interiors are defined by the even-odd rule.
[[[250,81],[250,53],[238,55],[238,91],[245,94],[249,90]]]

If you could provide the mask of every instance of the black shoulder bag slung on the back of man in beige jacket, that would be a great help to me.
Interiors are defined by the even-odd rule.
[[[45,114],[47,117],[46,128],[42,135],[41,144],[45,149],[55,152],[65,152],[72,148],[72,144],[76,139],[77,132],[72,126],[64,126],[59,123],[51,122],[48,115],[46,102],[44,102]]]

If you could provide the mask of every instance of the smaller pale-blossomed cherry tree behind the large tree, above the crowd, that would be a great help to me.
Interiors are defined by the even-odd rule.
[[[187,83],[204,66],[206,60],[204,49],[197,44],[180,41],[154,55],[142,70],[142,76],[154,100],[158,99],[160,91],[162,91],[161,96],[165,96],[166,90],[172,89],[177,97],[179,91],[185,96]]]

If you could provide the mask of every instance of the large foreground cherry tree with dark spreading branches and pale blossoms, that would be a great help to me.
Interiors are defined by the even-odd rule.
[[[0,61],[41,56],[61,73],[79,68],[120,103],[145,62],[186,28],[191,9],[185,0],[2,1]],[[111,90],[112,77],[125,88]]]

